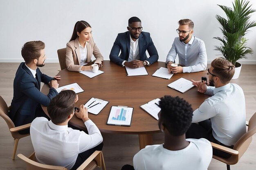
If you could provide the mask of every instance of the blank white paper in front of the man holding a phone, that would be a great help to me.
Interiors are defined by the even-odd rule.
[[[177,79],[175,82],[168,84],[167,86],[177,91],[180,91],[181,93],[185,93],[186,91],[191,89],[194,85],[192,84],[191,81],[184,78],[180,78],[180,79]]]

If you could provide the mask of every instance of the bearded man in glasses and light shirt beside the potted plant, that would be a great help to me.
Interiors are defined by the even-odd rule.
[[[193,36],[194,22],[183,19],[178,22],[176,30],[179,37],[174,39],[171,50],[166,57],[166,66],[171,73],[191,73],[204,71],[207,66],[207,54],[203,40]],[[178,54],[179,64],[172,67]]]

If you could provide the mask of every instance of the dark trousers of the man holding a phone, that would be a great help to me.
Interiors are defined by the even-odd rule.
[[[200,139],[205,138],[213,143],[220,144],[222,146],[233,148],[234,146],[226,146],[222,143],[220,143],[218,140],[216,140],[212,135],[212,128],[211,128],[211,120],[207,119],[201,122],[198,122],[198,124],[191,124],[189,130],[186,132],[186,138],[193,138],[193,139]],[[223,157],[223,158],[229,158],[231,157],[231,154],[228,154],[226,152],[223,152],[221,150],[213,148],[213,155]]]

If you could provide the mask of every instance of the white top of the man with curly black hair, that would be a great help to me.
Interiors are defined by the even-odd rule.
[[[186,139],[189,146],[182,150],[168,150],[163,145],[141,149],[133,157],[135,170],[207,170],[212,147],[207,139]]]

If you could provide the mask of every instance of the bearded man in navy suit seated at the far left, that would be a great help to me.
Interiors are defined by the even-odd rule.
[[[58,92],[60,76],[49,77],[38,67],[45,65],[45,43],[41,41],[26,42],[21,50],[25,62],[20,63],[13,81],[13,99],[9,117],[15,126],[31,123],[36,117],[47,117],[41,104],[48,106]],[[49,84],[47,95],[40,92],[40,83]],[[48,118],[48,117],[47,117]],[[29,129],[19,131],[20,134],[29,133]]]

